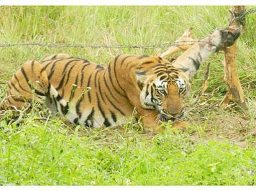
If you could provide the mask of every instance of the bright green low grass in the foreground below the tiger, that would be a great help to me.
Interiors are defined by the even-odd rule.
[[[8,128],[9,126],[1,126]],[[106,130],[70,134],[60,121],[33,118],[1,135],[1,181],[17,185],[253,185],[255,148],[191,140],[182,132],[154,139]]]

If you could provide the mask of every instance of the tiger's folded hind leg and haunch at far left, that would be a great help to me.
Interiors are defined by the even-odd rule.
[[[25,107],[26,103],[45,98],[49,89],[47,74],[38,61],[27,61],[8,82],[8,96],[1,106]]]

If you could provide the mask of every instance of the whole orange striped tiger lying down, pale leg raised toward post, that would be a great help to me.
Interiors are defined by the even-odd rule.
[[[180,66],[191,68],[175,67],[159,56],[132,54],[119,54],[108,66],[68,54],[28,61],[8,82],[4,107],[45,100],[52,113],[89,128],[123,125],[136,111],[144,128],[162,131],[159,125],[177,123],[184,115],[184,97],[191,88],[186,72],[198,70],[227,40],[223,36],[216,30],[207,39],[211,43],[192,45],[179,56]]]

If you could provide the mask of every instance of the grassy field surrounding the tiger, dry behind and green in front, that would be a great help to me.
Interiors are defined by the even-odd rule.
[[[31,6],[0,7],[0,43],[152,45],[173,42],[184,29],[207,36],[228,24],[229,6]],[[22,123],[8,125],[0,112],[0,185],[256,185],[256,15],[238,40],[239,77],[248,112],[218,107],[227,92],[223,54],[211,62],[209,88],[191,105],[204,79],[193,79],[186,100],[191,126],[161,134],[141,124],[88,130],[33,107]],[[24,61],[65,52],[106,65],[118,53],[153,54],[158,49],[0,47],[0,101],[6,82]],[[164,51],[164,49],[161,49]],[[42,109],[43,108],[43,109]],[[168,126],[168,125],[166,125]]]

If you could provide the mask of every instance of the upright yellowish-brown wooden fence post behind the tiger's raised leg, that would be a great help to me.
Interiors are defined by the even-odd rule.
[[[230,22],[230,27],[240,29],[241,22],[237,21],[236,17],[243,15],[244,6],[232,6],[230,13],[232,20],[232,22]],[[237,42],[235,42],[234,45],[230,47],[225,47],[223,50],[225,52],[225,82],[228,84],[228,92],[221,102],[221,106],[226,107],[231,101],[234,101],[241,107],[241,109],[247,109],[246,99],[244,98],[243,89],[237,73]]]

